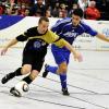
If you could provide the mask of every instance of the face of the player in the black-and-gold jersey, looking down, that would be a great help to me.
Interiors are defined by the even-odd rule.
[[[39,33],[45,34],[48,29],[49,22],[41,21],[41,23],[38,24]]]

